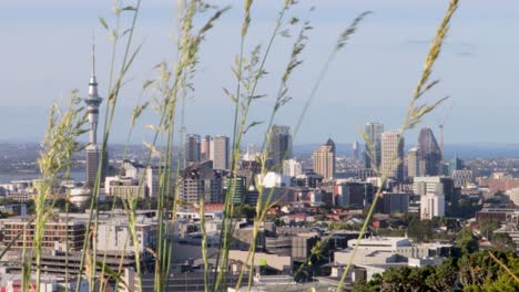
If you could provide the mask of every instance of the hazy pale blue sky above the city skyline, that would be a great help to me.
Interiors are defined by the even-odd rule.
[[[242,1],[230,3],[232,10],[217,22],[202,44],[201,64],[194,80],[196,87],[186,105],[190,133],[231,134],[233,107],[223,87],[233,90],[231,64],[238,51]],[[265,44],[283,1],[256,1],[252,14],[247,51]],[[289,95],[276,123],[294,126],[312,85],[336,36],[360,12],[370,10],[352,42],[339,53],[326,75],[303,123],[296,143],[320,143],[330,135],[336,142],[358,139],[357,126],[381,122],[386,129],[398,127],[413,88],[419,77],[431,38],[448,1],[440,0],[301,0],[288,15],[311,14],[315,28],[304,53],[304,64],[293,75]],[[441,83],[426,98],[446,95],[451,100],[432,113],[424,125],[438,131],[438,122],[454,108],[446,125],[446,144],[496,142],[519,143],[519,1],[460,1],[445,50],[432,77]],[[48,107],[72,88],[84,95],[91,70],[92,29],[96,34],[98,80],[106,94],[110,42],[98,18],[113,21],[112,1],[45,0],[2,1],[0,10],[0,140],[41,138]],[[114,142],[122,142],[128,131],[129,113],[135,105],[142,82],[155,76],[152,67],[174,58],[172,35],[176,1],[143,1],[136,42],[144,42],[142,53],[129,73],[116,113]],[[288,18],[287,18],[288,19]],[[294,33],[295,34],[295,33]],[[277,39],[267,62],[268,76],[260,92],[269,97],[252,111],[252,121],[265,121],[273,104],[273,93],[288,60],[292,40]],[[105,103],[102,104],[104,109]],[[103,111],[101,111],[103,112]],[[134,143],[150,134],[145,124],[156,122],[150,112],[139,124]],[[257,142],[264,128],[247,134]],[[406,136],[416,142],[418,131]],[[438,134],[437,134],[438,135]]]

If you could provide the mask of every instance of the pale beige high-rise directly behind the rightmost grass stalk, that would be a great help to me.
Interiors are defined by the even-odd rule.
[[[404,137],[399,131],[381,134],[381,174],[397,180],[404,179]]]

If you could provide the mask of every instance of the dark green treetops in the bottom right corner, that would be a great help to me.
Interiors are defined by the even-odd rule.
[[[508,269],[492,259],[490,252]],[[519,291],[519,258],[513,252],[478,251],[451,258],[437,267],[390,268],[370,281],[359,281],[354,292],[385,291]]]

